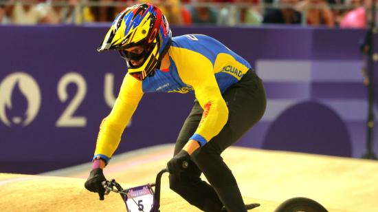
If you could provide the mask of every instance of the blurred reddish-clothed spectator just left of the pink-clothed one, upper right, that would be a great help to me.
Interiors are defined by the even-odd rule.
[[[308,25],[335,26],[333,13],[329,8],[328,2],[325,0],[302,0],[297,4],[296,10],[306,12],[306,22]]]

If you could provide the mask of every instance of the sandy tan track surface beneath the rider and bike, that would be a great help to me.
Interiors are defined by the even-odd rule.
[[[115,156],[105,169],[108,179],[135,187],[153,182],[173,152],[172,145]],[[329,211],[377,211],[378,162],[352,158],[232,147],[223,153],[252,211],[274,211],[280,202],[304,196]],[[1,211],[125,211],[120,196],[104,201],[83,184],[90,164],[38,176],[0,173]],[[60,176],[60,177],[57,177]],[[199,211],[168,188],[162,178],[161,211]]]

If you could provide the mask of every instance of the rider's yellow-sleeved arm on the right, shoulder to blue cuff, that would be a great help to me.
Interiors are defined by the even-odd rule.
[[[184,83],[192,85],[203,108],[199,126],[190,140],[196,140],[203,146],[219,134],[227,122],[228,109],[216,83],[211,61],[198,52],[184,51],[185,60],[176,63],[177,70]]]

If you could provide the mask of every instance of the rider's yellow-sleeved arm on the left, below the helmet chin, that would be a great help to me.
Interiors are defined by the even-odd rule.
[[[126,74],[113,109],[100,125],[93,159],[101,158],[107,162],[111,158],[142,96],[142,82]]]

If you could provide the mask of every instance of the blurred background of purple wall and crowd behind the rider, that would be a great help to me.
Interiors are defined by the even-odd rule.
[[[117,52],[96,47],[116,14],[142,2],[0,0],[0,172],[91,160],[127,71]],[[263,78],[265,116],[236,145],[375,158],[371,0],[148,2],[166,14],[173,36],[213,36]],[[146,94],[116,154],[175,142],[193,100]]]

